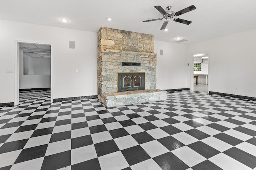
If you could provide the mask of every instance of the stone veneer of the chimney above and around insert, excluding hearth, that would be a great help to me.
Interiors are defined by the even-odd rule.
[[[101,27],[98,31],[98,99],[117,92],[117,72],[146,72],[145,89],[156,89],[154,36]],[[141,66],[122,66],[122,62]]]

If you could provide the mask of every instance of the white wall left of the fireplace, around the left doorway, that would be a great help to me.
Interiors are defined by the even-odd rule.
[[[14,102],[14,74],[6,69],[14,69],[16,40],[52,44],[52,98],[97,95],[97,33],[6,20],[0,25],[0,103]]]

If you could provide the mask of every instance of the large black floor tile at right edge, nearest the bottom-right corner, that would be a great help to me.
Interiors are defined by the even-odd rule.
[[[230,156],[231,158],[234,158],[235,160],[238,160],[239,162],[242,162],[250,168],[256,167],[256,157],[236,147],[232,147],[223,153]]]

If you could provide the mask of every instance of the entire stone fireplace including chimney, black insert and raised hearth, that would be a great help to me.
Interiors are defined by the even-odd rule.
[[[157,54],[154,53],[153,39],[154,36],[149,34],[100,28],[98,31],[98,99],[107,107],[148,102],[153,98],[154,101],[164,100],[163,96],[166,96],[166,92],[156,89]],[[118,81],[120,78],[121,81]],[[139,97],[140,93],[147,94]],[[156,96],[152,98],[154,93]],[[161,99],[160,94],[162,94]],[[129,95],[134,96],[133,99]],[[151,96],[151,99],[146,99],[145,95],[148,98]],[[122,100],[114,101],[116,97],[120,99],[120,96]]]

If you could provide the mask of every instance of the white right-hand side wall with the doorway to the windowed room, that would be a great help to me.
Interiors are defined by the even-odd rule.
[[[188,61],[202,51],[210,51],[210,91],[256,97],[256,29],[188,45]]]

